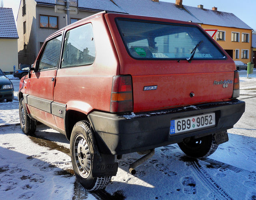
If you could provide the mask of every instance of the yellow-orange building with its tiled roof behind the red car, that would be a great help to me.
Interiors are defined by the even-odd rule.
[[[184,6],[200,22],[204,30],[217,30],[214,40],[234,59],[248,63],[252,61],[252,28],[232,13]]]

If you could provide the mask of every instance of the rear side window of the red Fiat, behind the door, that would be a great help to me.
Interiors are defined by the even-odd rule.
[[[96,56],[92,24],[79,26],[66,33],[62,68],[90,65]]]

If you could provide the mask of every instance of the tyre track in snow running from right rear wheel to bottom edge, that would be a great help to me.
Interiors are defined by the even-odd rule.
[[[191,161],[189,162],[193,168],[193,170],[196,172],[197,176],[204,182],[204,184],[211,190],[214,191],[214,194],[216,196],[219,196],[220,198],[226,198],[226,200],[233,200],[220,186],[218,186],[214,180],[207,174],[207,172],[202,168],[202,166],[198,163],[198,161]]]

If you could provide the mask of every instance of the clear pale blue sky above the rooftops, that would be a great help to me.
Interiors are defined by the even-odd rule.
[[[161,0],[175,3],[175,0]],[[5,8],[12,8],[16,20],[20,0],[3,0]],[[230,12],[236,15],[252,29],[256,30],[256,0],[183,0],[183,5],[194,6],[203,5],[206,9],[217,7],[218,11]]]

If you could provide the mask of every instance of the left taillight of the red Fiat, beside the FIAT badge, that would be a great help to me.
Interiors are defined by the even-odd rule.
[[[131,112],[132,108],[132,77],[130,75],[114,76],[112,81],[110,112]]]

